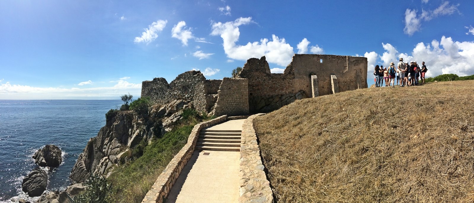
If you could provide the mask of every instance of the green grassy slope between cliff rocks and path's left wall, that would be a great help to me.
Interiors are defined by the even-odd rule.
[[[131,106],[131,105],[130,105]],[[183,119],[170,132],[155,138],[150,144],[140,142],[131,150],[136,157],[123,167],[117,167],[108,178],[112,183],[113,203],[141,203],[156,178],[186,144],[195,124],[210,119],[190,109],[183,112]]]

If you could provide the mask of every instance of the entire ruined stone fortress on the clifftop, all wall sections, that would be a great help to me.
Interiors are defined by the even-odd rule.
[[[367,88],[367,58],[295,54],[284,73],[270,73],[264,56],[251,58],[236,78],[209,80],[200,71],[187,71],[170,83],[164,78],[143,81],[141,97],[155,104],[187,99],[212,115],[246,115],[358,88]]]

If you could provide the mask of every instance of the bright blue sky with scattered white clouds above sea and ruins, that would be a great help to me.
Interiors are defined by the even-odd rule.
[[[474,74],[474,1],[0,1],[0,99],[139,97],[141,82],[229,77],[265,55],[425,61],[427,77]]]

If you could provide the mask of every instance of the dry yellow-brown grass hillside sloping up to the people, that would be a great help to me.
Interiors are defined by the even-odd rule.
[[[255,129],[278,203],[474,201],[474,80],[302,99]]]

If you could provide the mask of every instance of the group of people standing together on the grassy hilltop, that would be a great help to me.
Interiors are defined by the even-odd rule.
[[[411,61],[410,64],[403,62],[403,58],[400,58],[399,61],[397,67],[395,67],[395,63],[391,62],[388,69],[387,67],[383,68],[383,65],[375,66],[375,87],[383,87],[383,81],[385,81],[385,87],[389,87],[392,83],[394,88],[395,79],[400,87],[425,83],[425,74],[428,71],[425,62],[421,62],[421,67],[419,67],[418,63],[414,61]]]

